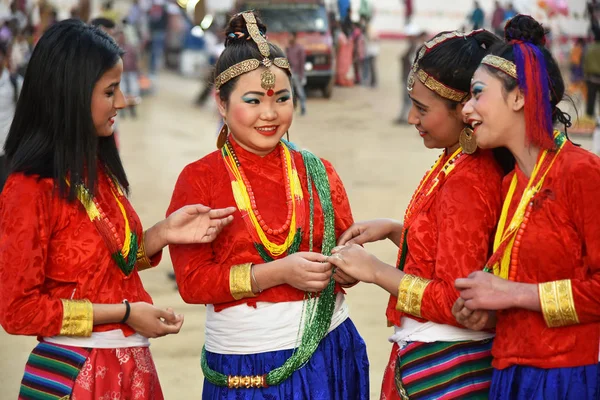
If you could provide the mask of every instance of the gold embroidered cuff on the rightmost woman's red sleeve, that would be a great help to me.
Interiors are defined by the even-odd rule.
[[[538,290],[542,313],[549,328],[579,323],[570,279],[540,283]]]

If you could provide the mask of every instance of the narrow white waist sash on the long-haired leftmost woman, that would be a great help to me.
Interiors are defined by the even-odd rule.
[[[120,349],[125,347],[148,347],[150,341],[147,337],[135,333],[125,336],[120,329],[106,332],[92,332],[90,337],[78,336],[52,336],[45,337],[44,342],[62,344],[73,347],[89,347],[92,349]]]

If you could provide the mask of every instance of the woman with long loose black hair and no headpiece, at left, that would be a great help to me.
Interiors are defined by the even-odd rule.
[[[233,209],[190,205],[142,229],[113,136],[121,54],[67,20],[27,67],[0,197],[0,324],[40,340],[19,399],[162,399],[148,338],[179,332],[183,316],[153,306],[138,271],[232,219]]]

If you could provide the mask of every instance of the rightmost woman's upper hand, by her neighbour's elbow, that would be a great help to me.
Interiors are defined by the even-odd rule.
[[[457,279],[454,286],[470,310],[505,310],[515,305],[515,283],[489,272],[477,271]]]

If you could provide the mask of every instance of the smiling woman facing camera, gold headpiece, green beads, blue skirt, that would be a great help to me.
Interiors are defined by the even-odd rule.
[[[204,399],[368,399],[365,344],[327,256],[352,225],[331,165],[282,140],[290,68],[252,12],[217,61],[218,150],[188,165],[168,212],[235,204],[212,245],[170,249],[184,301],[207,304]]]

